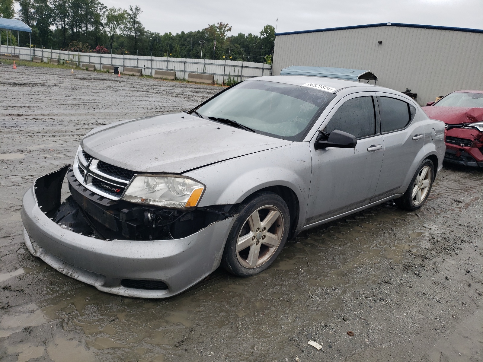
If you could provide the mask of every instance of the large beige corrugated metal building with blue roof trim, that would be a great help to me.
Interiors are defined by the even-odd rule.
[[[423,105],[483,90],[483,30],[383,23],[275,34],[273,75],[290,66],[367,69]]]

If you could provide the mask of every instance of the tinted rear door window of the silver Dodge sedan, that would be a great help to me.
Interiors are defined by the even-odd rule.
[[[381,132],[396,131],[409,124],[412,112],[408,103],[391,97],[377,97],[377,99],[381,115]]]

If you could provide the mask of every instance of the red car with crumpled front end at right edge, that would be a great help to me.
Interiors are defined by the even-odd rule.
[[[456,91],[426,106],[428,117],[446,126],[444,161],[483,167],[483,91]]]

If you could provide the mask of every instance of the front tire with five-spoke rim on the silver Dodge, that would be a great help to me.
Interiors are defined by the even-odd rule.
[[[250,277],[267,269],[284,248],[290,213],[284,199],[268,191],[243,201],[236,213],[222,266],[229,273]]]

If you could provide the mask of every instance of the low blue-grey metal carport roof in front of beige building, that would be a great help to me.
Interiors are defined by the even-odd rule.
[[[316,77],[326,77],[335,79],[344,79],[346,81],[374,81],[376,84],[377,77],[370,70],[330,68],[330,67],[301,67],[293,65],[280,70],[280,75],[311,75]]]

